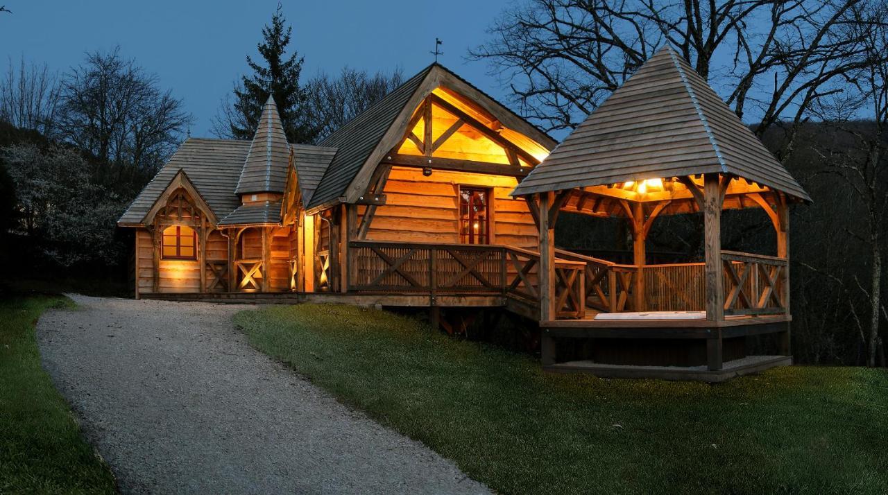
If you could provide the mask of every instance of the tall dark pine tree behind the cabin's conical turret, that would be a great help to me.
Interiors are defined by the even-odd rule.
[[[270,90],[289,142],[311,143],[316,137],[317,130],[313,129],[305,114],[308,95],[299,85],[304,59],[298,56],[297,51],[286,56],[293,30],[291,26],[285,26],[286,22],[279,3],[271,25],[262,28],[263,40],[258,44],[264,64],[247,56],[247,64],[253,74],[243,75],[241,83],[234,86],[234,102],[229,105],[226,101],[223,104],[222,114],[214,123],[214,130],[219,136],[252,139]]]

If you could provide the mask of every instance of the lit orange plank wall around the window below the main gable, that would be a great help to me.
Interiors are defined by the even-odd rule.
[[[385,183],[386,204],[377,208],[367,240],[458,243],[459,185],[493,190],[491,244],[539,248],[527,204],[509,196],[518,185],[514,177],[445,170],[425,177],[422,169],[408,167],[392,168]],[[364,210],[359,209],[359,222]]]

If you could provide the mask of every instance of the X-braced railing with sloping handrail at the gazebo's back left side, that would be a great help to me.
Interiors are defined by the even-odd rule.
[[[611,313],[633,308],[638,266],[612,263],[563,249],[556,249],[555,254],[565,260],[584,263],[585,306]]]

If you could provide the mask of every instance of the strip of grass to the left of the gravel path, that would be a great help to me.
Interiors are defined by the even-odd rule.
[[[60,296],[0,300],[0,493],[114,493],[111,471],[83,441],[40,365],[35,329]]]

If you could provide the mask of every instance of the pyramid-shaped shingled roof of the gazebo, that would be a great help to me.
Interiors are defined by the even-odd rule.
[[[512,194],[710,172],[744,177],[811,200],[715,90],[667,45],[531,170]]]

